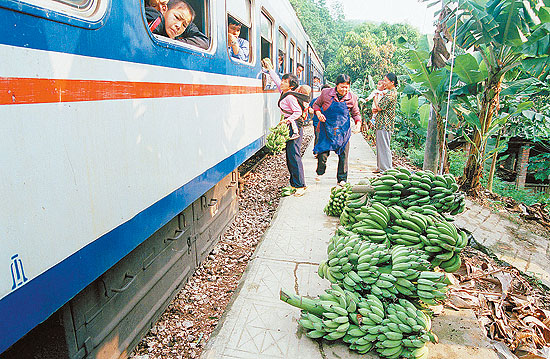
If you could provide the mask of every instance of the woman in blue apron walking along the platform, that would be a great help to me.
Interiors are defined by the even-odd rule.
[[[338,75],[336,87],[324,89],[313,104],[319,118],[319,133],[313,153],[317,154],[317,175],[325,174],[330,151],[338,155],[336,180],[344,185],[348,180],[349,139],[351,119],[355,126],[361,124],[361,114],[357,106],[357,96],[350,92],[351,79],[348,75]]]

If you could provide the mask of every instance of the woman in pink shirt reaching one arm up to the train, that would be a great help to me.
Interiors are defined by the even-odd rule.
[[[283,113],[283,119],[285,122],[295,120],[298,125],[298,137],[293,140],[289,140],[286,143],[286,165],[288,172],[290,172],[290,186],[295,189],[294,195],[299,197],[303,196],[306,191],[306,180],[304,176],[304,166],[302,164],[302,155],[300,153],[300,147],[302,145],[302,125],[300,121],[303,110],[302,101],[309,101],[306,96],[297,92],[294,92],[298,87],[298,78],[294,74],[284,74],[282,79],[277,76],[271,60],[269,58],[262,59],[262,68],[269,73],[269,76],[277,85],[281,97],[279,98],[279,108]],[[302,96],[304,96],[302,98]],[[301,98],[300,100],[298,98]],[[291,135],[294,133],[291,132]]]

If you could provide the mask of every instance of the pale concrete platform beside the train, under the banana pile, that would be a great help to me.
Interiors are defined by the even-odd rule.
[[[338,226],[338,219],[323,213],[330,189],[336,185],[337,159],[331,154],[327,173],[321,181],[315,181],[316,160],[310,145],[303,157],[306,194],[282,199],[271,227],[201,358],[378,357],[356,354],[340,342],[307,338],[297,323],[299,310],[279,300],[281,288],[299,295],[317,296],[329,287],[329,282],[321,279],[316,270],[326,259],[328,241]],[[352,136],[349,182],[357,183],[372,176],[375,165],[376,157],[361,135]],[[430,347],[430,358],[497,358],[471,311],[445,312],[433,322],[440,344]]]

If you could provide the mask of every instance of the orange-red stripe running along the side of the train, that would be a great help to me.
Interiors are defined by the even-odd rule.
[[[0,77],[0,105],[263,92],[260,86]]]

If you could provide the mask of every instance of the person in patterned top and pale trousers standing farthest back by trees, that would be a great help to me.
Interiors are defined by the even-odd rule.
[[[376,130],[376,171],[380,173],[392,168],[390,149],[391,134],[394,129],[395,111],[397,107],[397,76],[388,73],[382,80],[387,91],[384,97],[378,101],[372,109],[375,117],[374,128]]]

